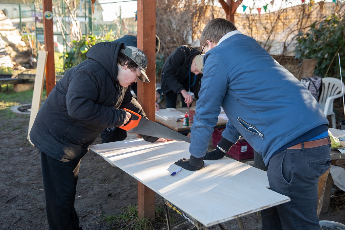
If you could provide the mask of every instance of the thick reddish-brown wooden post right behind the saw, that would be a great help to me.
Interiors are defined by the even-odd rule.
[[[145,5],[145,7],[144,7]],[[148,60],[146,74],[150,82],[138,80],[137,100],[146,116],[155,121],[156,90],[156,1],[138,0],[137,47]],[[138,182],[138,216],[155,218],[155,192]]]

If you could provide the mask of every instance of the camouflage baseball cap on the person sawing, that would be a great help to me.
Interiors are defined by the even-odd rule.
[[[127,57],[132,59],[139,67],[140,72],[142,73],[138,79],[143,82],[150,82],[145,71],[147,68],[147,58],[141,50],[134,46],[126,46],[124,50],[120,50],[121,53],[124,53]]]

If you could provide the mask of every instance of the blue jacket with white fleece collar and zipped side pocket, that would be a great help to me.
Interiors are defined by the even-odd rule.
[[[220,107],[229,118],[222,136],[235,143],[242,135],[265,164],[297,137],[328,125],[304,85],[244,34],[209,50],[203,73],[189,148],[195,157],[205,156]]]

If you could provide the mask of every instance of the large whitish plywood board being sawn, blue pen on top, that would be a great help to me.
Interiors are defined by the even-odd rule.
[[[207,227],[289,201],[267,188],[266,171],[227,157],[170,176],[179,168],[174,162],[190,156],[184,141],[140,138],[89,148]]]

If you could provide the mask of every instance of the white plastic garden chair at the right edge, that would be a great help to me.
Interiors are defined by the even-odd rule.
[[[345,84],[337,78],[322,78],[322,91],[319,98],[319,104],[323,109],[325,116],[332,118],[332,127],[336,129],[335,113],[333,112],[333,101],[342,97],[342,86],[345,91]]]

